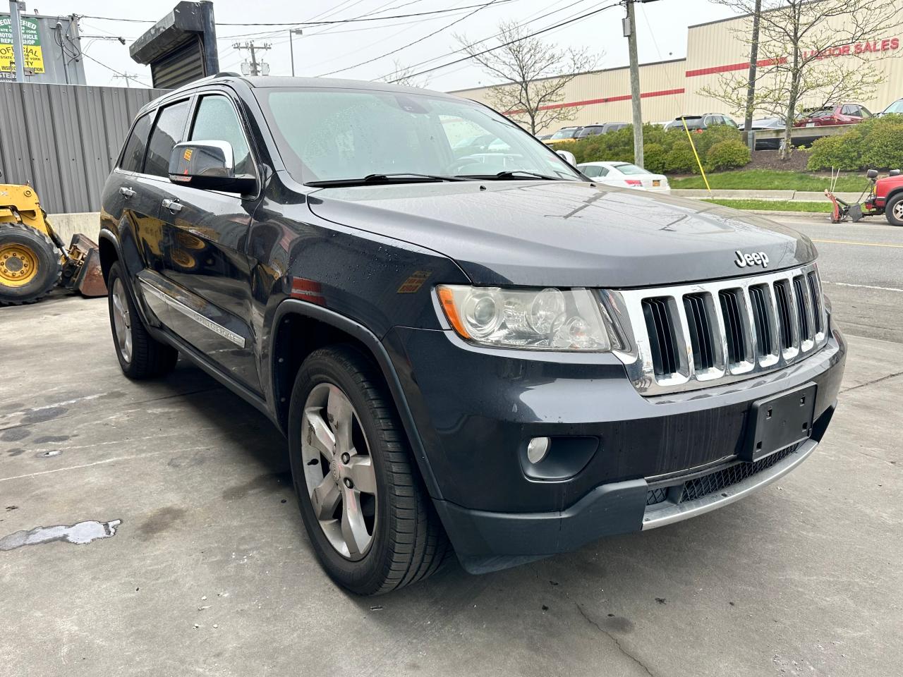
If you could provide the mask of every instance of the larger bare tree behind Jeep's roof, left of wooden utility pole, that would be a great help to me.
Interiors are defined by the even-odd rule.
[[[501,82],[489,89],[488,103],[531,134],[555,123],[568,122],[579,107],[557,107],[564,100],[565,86],[583,70],[590,70],[598,57],[586,50],[561,49],[539,38],[527,37],[529,30],[514,22],[500,23],[498,49],[487,53],[485,42],[470,43],[462,35],[455,38],[463,51],[493,78]]]

